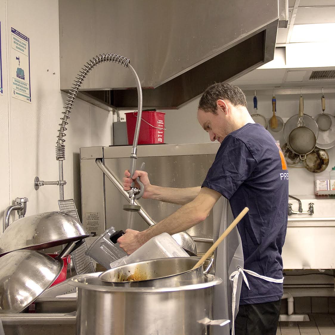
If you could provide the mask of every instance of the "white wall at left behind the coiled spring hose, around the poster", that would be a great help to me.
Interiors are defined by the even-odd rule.
[[[66,97],[59,89],[58,1],[0,0],[0,21],[4,82],[4,94],[0,95],[0,217],[18,196],[29,199],[27,215],[57,210],[59,187],[43,186],[36,191],[34,178],[58,179],[55,143]],[[30,39],[31,104],[11,97],[11,27]],[[82,64],[73,66],[79,70]],[[79,148],[113,144],[112,115],[77,99],[70,117],[65,199],[74,198],[80,209]]]

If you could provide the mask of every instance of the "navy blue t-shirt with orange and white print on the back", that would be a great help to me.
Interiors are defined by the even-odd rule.
[[[244,268],[281,279],[281,250],[288,209],[288,172],[283,153],[271,134],[259,124],[246,124],[222,141],[202,187],[229,200],[233,216],[249,212],[238,223]],[[242,284],[240,304],[279,300],[283,284],[246,273],[250,290]]]

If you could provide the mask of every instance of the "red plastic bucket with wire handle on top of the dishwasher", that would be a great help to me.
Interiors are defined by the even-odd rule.
[[[142,111],[141,127],[138,144],[164,143],[164,116],[165,113],[155,110]],[[128,144],[133,144],[137,112],[126,113]]]

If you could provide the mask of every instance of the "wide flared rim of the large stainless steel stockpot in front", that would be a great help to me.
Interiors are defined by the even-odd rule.
[[[94,285],[85,283],[85,279],[96,278],[102,274],[102,272],[96,273],[88,273],[75,276],[71,278],[70,284],[88,290],[94,291],[103,291],[103,292],[175,292],[175,291],[187,291],[187,290],[195,290],[201,289],[206,287],[211,287],[214,285],[218,285],[222,283],[222,279],[211,274],[206,274],[205,277],[207,282],[199,283],[199,284],[192,284],[192,285],[185,285],[185,286],[177,286],[177,287],[121,287],[121,286],[108,286],[104,284],[108,284],[106,282],[101,281],[102,285]]]

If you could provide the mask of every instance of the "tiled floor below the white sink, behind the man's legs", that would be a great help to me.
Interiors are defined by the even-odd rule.
[[[276,335],[335,334],[335,314],[313,313],[309,317],[309,322],[279,322]]]

